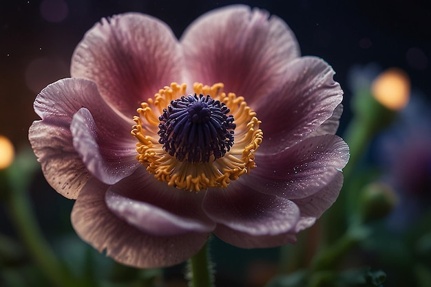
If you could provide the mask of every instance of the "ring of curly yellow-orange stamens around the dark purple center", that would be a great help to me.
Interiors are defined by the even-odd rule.
[[[178,161],[169,155],[158,143],[158,119],[172,100],[186,95],[186,84],[172,83],[170,87],[160,89],[154,98],[140,104],[137,109],[139,116],[134,117],[132,135],[138,139],[136,159],[146,166],[147,171],[154,174],[158,181],[183,190],[199,192],[208,187],[227,187],[230,181],[238,179],[243,174],[255,168],[254,152],[262,143],[263,133],[256,113],[246,105],[244,97],[235,93],[224,93],[222,83],[211,87],[200,83],[193,84],[193,93],[210,95],[214,100],[226,104],[233,115],[235,140],[231,150],[223,157],[209,162],[189,163]]]

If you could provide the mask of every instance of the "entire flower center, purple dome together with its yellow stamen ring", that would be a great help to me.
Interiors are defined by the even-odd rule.
[[[199,192],[229,183],[256,167],[263,139],[256,113],[223,84],[172,83],[140,104],[132,135],[136,159],[158,181]],[[235,130],[235,133],[234,133]]]

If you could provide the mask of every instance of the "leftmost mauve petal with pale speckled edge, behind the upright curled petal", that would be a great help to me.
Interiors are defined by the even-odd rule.
[[[109,121],[112,120],[116,122],[114,126],[124,127],[125,130],[115,130],[119,133],[117,138],[129,134],[133,125],[132,119],[126,122],[107,106],[96,84],[89,80],[59,80],[37,95],[34,111],[42,120],[32,124],[28,137],[48,183],[67,198],[76,198],[90,177],[74,150],[70,132],[72,117],[82,107],[88,108],[95,117],[106,119],[105,124],[111,124]],[[115,141],[114,137],[112,141]]]

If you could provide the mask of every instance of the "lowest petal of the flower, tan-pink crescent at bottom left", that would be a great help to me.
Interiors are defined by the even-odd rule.
[[[105,203],[108,185],[96,179],[88,181],[72,209],[76,233],[99,252],[121,264],[136,268],[171,266],[197,253],[209,233],[185,233],[176,236],[152,236],[142,232],[109,210]]]

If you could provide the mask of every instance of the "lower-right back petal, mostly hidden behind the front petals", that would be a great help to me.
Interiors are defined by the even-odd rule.
[[[295,232],[311,227],[315,220],[322,216],[338,197],[339,191],[343,186],[343,174],[338,172],[328,185],[325,185],[322,190],[307,196],[305,198],[293,199],[301,211],[301,217],[295,227]]]

